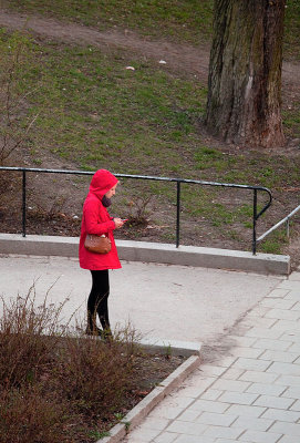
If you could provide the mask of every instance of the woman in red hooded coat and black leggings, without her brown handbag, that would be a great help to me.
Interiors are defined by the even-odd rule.
[[[86,333],[102,338],[112,334],[107,299],[110,295],[108,269],[121,268],[114,243],[113,230],[124,225],[121,218],[112,218],[107,212],[111,198],[115,195],[116,177],[106,169],[99,169],[92,178],[90,192],[83,205],[80,236],[80,266],[92,274],[92,290],[87,300]],[[112,249],[107,254],[91,253],[84,247],[87,234],[103,235],[111,239]],[[96,327],[96,315],[102,329]]]

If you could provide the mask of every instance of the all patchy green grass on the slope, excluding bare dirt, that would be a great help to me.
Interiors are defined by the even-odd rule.
[[[45,1],[39,4],[34,1],[18,2],[19,8],[37,8],[39,13],[49,13],[50,8],[51,13],[60,13],[68,19],[72,17],[74,20],[83,20],[84,16],[87,24],[91,24],[89,20],[92,20],[93,8],[104,3],[81,2],[81,7],[76,8],[77,4],[68,1],[54,1],[51,4]],[[115,16],[112,17],[122,16],[120,4],[114,4],[112,13]],[[151,24],[144,20],[151,16],[149,11],[156,9],[167,33],[172,23],[174,24],[167,19],[167,13],[177,17],[173,9],[169,7],[167,11],[154,1],[145,1],[143,4],[144,12],[141,10],[142,2],[122,3],[122,9],[128,12],[132,11],[131,8],[138,7],[138,25],[148,31],[152,29]],[[197,8],[206,8],[207,16],[203,17],[208,20],[211,4],[197,4],[195,11],[200,14]],[[291,11],[291,4],[292,2],[288,3],[287,11]],[[108,11],[112,6],[113,3],[107,2],[104,11]],[[180,6],[184,17],[185,8],[188,10],[192,2],[183,2]],[[11,7],[17,7],[17,3],[12,2]],[[179,3],[173,2],[173,7],[178,9]],[[294,3],[292,8],[297,10],[298,4]],[[161,9],[164,9],[165,16]],[[128,19],[127,12],[124,12],[124,22]],[[105,17],[108,16],[107,12]],[[96,19],[95,14],[93,17],[93,20]],[[294,29],[297,17],[287,14],[287,20],[293,23],[289,25],[289,30]],[[111,20],[107,19],[108,22]],[[122,25],[122,20],[120,23]],[[161,32],[159,23],[158,20],[157,32]],[[193,29],[193,25],[189,24],[188,29]],[[262,185],[276,192],[279,204],[289,202],[290,208],[296,206],[293,202],[297,196],[286,189],[298,187],[299,156],[288,157],[285,153],[269,155],[262,151],[231,148],[216,143],[213,145],[201,130],[207,91],[206,85],[198,80],[185,74],[174,75],[164,65],[145,61],[124,50],[104,53],[93,47],[37,41],[4,31],[0,37],[0,63],[3,72],[20,41],[24,42],[19,71],[15,73],[15,100],[27,92],[31,93],[15,109],[15,125],[21,133],[30,119],[39,114],[23,146],[24,154],[33,165],[43,167],[44,158],[50,153],[62,164],[65,162],[74,168],[85,171],[106,167],[115,173]],[[177,38],[185,39],[180,33]],[[126,70],[128,65],[134,66],[135,71]],[[299,136],[299,115],[297,103],[283,111],[285,131],[289,137]],[[126,183],[124,181],[122,198],[130,197],[133,189],[134,193],[151,192],[157,200],[170,208],[169,214],[174,210],[174,187],[162,183],[141,186],[135,183],[132,187],[132,183]],[[248,197],[235,197],[235,206],[225,195],[219,194],[217,197],[214,188],[194,190],[194,187],[192,193],[190,189],[183,190],[183,210],[187,220],[188,217],[211,220],[215,235],[224,224],[228,226],[228,238],[235,237],[231,229],[235,225],[250,227],[251,216],[242,210],[242,205],[251,207],[251,199]],[[211,200],[215,202],[213,208]],[[120,204],[121,208],[125,206],[125,203]],[[167,225],[169,220],[165,223],[158,219],[156,224]],[[174,238],[172,229],[166,228],[162,233],[170,241]]]

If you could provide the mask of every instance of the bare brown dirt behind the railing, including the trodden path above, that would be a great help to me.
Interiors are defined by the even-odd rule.
[[[183,73],[187,76],[193,76],[199,79],[204,82],[207,81],[208,75],[208,63],[209,63],[209,45],[198,45],[192,47],[188,44],[175,44],[169,41],[151,41],[146,38],[141,38],[136,33],[125,29],[112,29],[107,32],[100,32],[96,29],[87,28],[77,23],[65,23],[60,22],[52,18],[43,18],[43,17],[27,17],[23,14],[12,13],[10,11],[1,11],[0,14],[0,25],[6,27],[11,30],[27,28],[33,33],[37,38],[40,39],[51,39],[56,41],[63,41],[68,43],[84,43],[84,44],[93,44],[97,48],[101,48],[103,51],[110,52],[115,50],[115,48],[124,48],[126,50],[131,50],[134,53],[138,53],[145,59],[153,60],[166,60],[167,69],[170,73]],[[282,100],[283,107],[288,107],[290,103],[297,102],[300,100],[300,78],[299,78],[300,66],[298,63],[292,62],[283,62],[282,66]],[[219,142],[214,141],[211,137],[207,136],[208,143],[214,146],[214,143],[220,146]],[[234,152],[234,146],[225,145],[223,146],[223,151],[230,150]],[[299,155],[299,141],[289,141],[289,144],[285,151],[286,155],[294,156]],[[48,157],[43,158],[43,167],[46,168],[58,168],[58,169],[73,169],[76,168],[71,163],[66,163],[63,159],[52,156],[51,154],[46,154]],[[272,153],[270,152],[270,155]],[[18,162],[20,164],[20,162]],[[24,166],[33,166],[31,164],[30,156],[23,156],[23,165]],[[19,178],[15,176],[15,181]],[[15,185],[15,182],[14,182]],[[10,186],[10,185],[9,185]],[[68,235],[68,236],[77,236],[80,233],[80,216],[81,216],[81,205],[86,195],[86,183],[79,185],[71,177],[60,177],[60,181],[53,181],[53,177],[50,175],[32,176],[29,183],[29,190],[31,194],[35,192],[35,189],[40,189],[41,186],[46,187],[51,190],[51,195],[59,195],[60,189],[64,189],[64,199],[68,202],[68,205],[64,203],[58,203],[58,200],[52,200],[51,197],[48,197],[48,202],[43,200],[43,195],[35,198],[40,198],[40,202],[37,200],[38,208],[34,210],[28,210],[28,230],[30,234],[38,234],[43,230],[43,234],[51,235]],[[3,187],[7,188],[7,184],[3,184]],[[292,193],[299,193],[299,189],[291,190]],[[7,203],[11,202],[12,190],[2,198],[2,214],[0,207],[0,229],[2,231],[20,231],[21,224],[21,215],[20,208],[10,214],[7,214],[6,210],[6,199]],[[74,193],[76,194],[76,198],[74,198]],[[39,194],[37,194],[39,195]],[[282,210],[282,214],[287,215],[289,210],[294,208],[294,204],[290,204],[289,200],[294,200],[294,196],[290,198],[291,193],[287,193],[286,208]],[[230,196],[231,197],[231,196]],[[29,198],[30,199],[30,198]],[[21,200],[20,200],[21,205]],[[30,202],[28,204],[30,207]],[[48,207],[45,210],[44,207]],[[174,222],[172,220],[174,208],[166,208],[167,210],[162,210],[162,217],[166,220],[166,225],[172,225]],[[158,209],[159,210],[159,209]],[[172,216],[170,216],[172,213]],[[278,210],[268,212],[269,220],[277,223],[281,214],[278,214]],[[18,220],[19,218],[19,220]],[[174,218],[174,217],[173,217]],[[223,247],[223,248],[231,248],[231,249],[249,249],[249,241],[251,241],[250,237],[242,239],[230,239],[223,236],[220,229],[215,229],[215,231],[210,233],[210,227],[208,223],[205,220],[203,223],[203,233],[210,235],[209,244],[205,235],[200,233],[200,236],[197,239],[198,246],[211,246],[211,247]],[[19,226],[18,226],[19,224]],[[195,220],[197,224],[197,220]],[[182,222],[182,231],[187,234],[183,234],[183,243],[184,244],[195,244],[195,233],[188,231],[189,222],[183,219]],[[262,224],[263,226],[263,224]],[[265,226],[263,226],[265,227]],[[13,230],[14,229],[14,230]],[[265,229],[266,230],[266,229]],[[149,240],[149,241],[166,241],[165,238],[161,236],[162,228],[159,226],[149,226],[139,227],[138,229],[135,226],[135,229],[124,229],[121,238],[128,239],[139,239],[139,240]],[[118,235],[118,233],[117,233]],[[219,238],[218,238],[219,236]],[[299,233],[298,233],[299,236]],[[286,247],[283,253],[289,254],[292,257],[293,266],[297,266],[300,262],[300,248],[299,248],[299,238],[292,239]]]

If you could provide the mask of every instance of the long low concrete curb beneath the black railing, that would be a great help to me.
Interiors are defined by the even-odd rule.
[[[273,254],[116,240],[122,260],[289,275],[290,257]],[[77,237],[0,234],[0,254],[77,257]]]

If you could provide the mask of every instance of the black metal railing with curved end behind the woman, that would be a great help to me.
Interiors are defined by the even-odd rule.
[[[10,167],[0,166],[0,171],[15,171],[22,173],[22,235],[27,235],[27,174],[28,173],[44,173],[44,174],[72,174],[72,175],[93,175],[95,172],[84,172],[84,171],[68,171],[68,169],[42,169],[33,167]],[[254,192],[252,196],[252,254],[256,255],[257,250],[257,220],[258,218],[268,209],[272,202],[271,192],[263,186],[250,186],[250,185],[238,185],[234,183],[218,183],[218,182],[205,182],[205,181],[194,181],[184,178],[169,178],[169,177],[155,177],[147,175],[130,175],[130,174],[114,174],[116,177],[132,178],[132,179],[144,179],[144,181],[155,181],[155,182],[172,182],[176,184],[176,248],[179,247],[180,238],[180,189],[182,184],[195,184],[201,186],[220,186],[224,188],[238,188],[238,189],[251,189]],[[269,199],[258,212],[258,192],[267,193]]]

